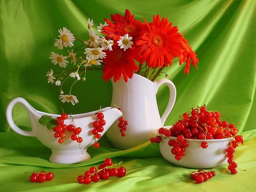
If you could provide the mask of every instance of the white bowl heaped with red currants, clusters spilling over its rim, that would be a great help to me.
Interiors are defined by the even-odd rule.
[[[172,164],[194,169],[224,164],[236,169],[234,151],[243,144],[234,124],[222,121],[219,112],[208,111],[206,106],[192,108],[173,126],[159,128],[150,140],[159,143],[160,153]]]

